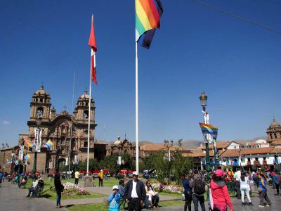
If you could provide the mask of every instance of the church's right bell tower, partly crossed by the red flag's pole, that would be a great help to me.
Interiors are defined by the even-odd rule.
[[[75,108],[77,123],[88,124],[89,122],[89,98],[89,94],[85,91],[77,101],[77,107]],[[90,124],[95,123],[95,109],[95,102],[93,101],[93,98],[91,98]]]

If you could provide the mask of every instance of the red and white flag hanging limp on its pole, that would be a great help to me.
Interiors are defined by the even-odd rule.
[[[93,15],[92,15],[92,25],[91,25],[91,34],[89,38],[89,46],[91,46],[91,78],[95,84],[97,84],[96,79],[96,36],[95,29],[93,27]]]

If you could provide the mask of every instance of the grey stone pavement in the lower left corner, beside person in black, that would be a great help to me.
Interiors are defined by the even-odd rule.
[[[8,181],[2,182],[2,187],[0,188],[0,210],[55,210],[55,201],[46,198],[26,197],[27,193],[27,188],[18,188],[17,185],[12,185]],[[60,210],[67,209],[63,207]]]

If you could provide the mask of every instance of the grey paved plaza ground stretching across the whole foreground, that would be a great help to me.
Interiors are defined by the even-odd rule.
[[[104,195],[110,195],[110,187],[89,187],[89,191],[94,193],[101,193]],[[0,188],[0,210],[55,210],[55,201],[48,200],[46,198],[27,198],[27,188],[18,188],[16,185],[12,185],[10,182],[4,182]],[[231,198],[234,205],[234,210],[281,210],[281,196],[275,196],[275,191],[270,186],[268,188],[268,197],[270,198],[272,205],[270,207],[259,207],[259,197],[252,197],[252,203],[254,207],[242,207],[241,201],[237,198]],[[84,198],[84,199],[71,199],[71,200],[62,200],[62,205],[64,206],[61,210],[67,210],[68,206],[72,205],[83,205],[89,203],[102,203],[104,198]],[[160,205],[161,201],[164,200],[178,200],[178,198],[170,196],[161,196],[160,193]],[[247,201],[247,199],[246,199]],[[207,206],[207,203],[205,203]],[[183,206],[176,207],[159,207],[157,210],[183,210]],[[194,210],[192,204],[192,210]],[[200,209],[201,210],[201,209]]]

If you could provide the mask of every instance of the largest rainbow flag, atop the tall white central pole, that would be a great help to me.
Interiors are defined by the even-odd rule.
[[[163,8],[160,0],[136,0],[136,42],[150,48],[155,30],[160,27]]]

